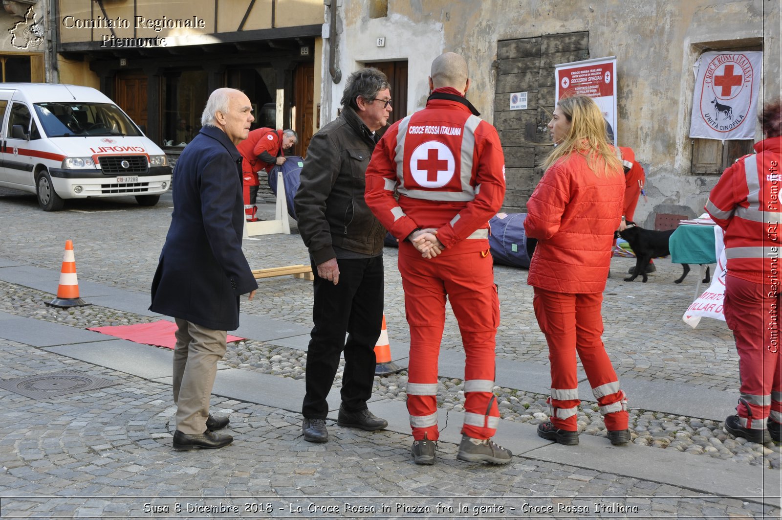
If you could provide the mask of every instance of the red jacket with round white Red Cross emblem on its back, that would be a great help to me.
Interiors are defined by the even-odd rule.
[[[461,96],[434,93],[375,147],[365,199],[394,237],[435,228],[443,254],[468,238],[461,252],[489,249],[488,222],[505,196],[505,161],[497,130],[475,114]]]

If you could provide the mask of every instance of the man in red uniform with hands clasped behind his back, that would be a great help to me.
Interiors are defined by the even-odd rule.
[[[400,240],[411,336],[407,410],[416,464],[433,464],[435,458],[437,358],[447,297],[466,354],[465,424],[457,457],[492,464],[512,457],[491,440],[500,415],[493,395],[500,309],[488,222],[505,194],[504,156],[497,130],[465,99],[468,87],[464,58],[454,52],[436,58],[425,109],[389,128],[366,173],[367,204]]]

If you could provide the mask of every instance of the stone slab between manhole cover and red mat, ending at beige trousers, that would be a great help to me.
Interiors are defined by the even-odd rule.
[[[124,339],[61,345],[46,350],[145,379],[170,376],[174,356],[170,348],[157,348]]]

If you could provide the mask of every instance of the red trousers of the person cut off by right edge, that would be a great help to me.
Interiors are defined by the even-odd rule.
[[[782,423],[780,294],[773,298],[762,283],[725,277],[725,321],[734,332],[741,379],[738,406],[744,428],[766,428],[766,417]]]

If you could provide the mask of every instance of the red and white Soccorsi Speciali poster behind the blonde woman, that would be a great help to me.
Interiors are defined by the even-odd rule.
[[[616,139],[616,56],[560,63],[554,66],[557,100],[569,96],[590,96],[611,124]]]

